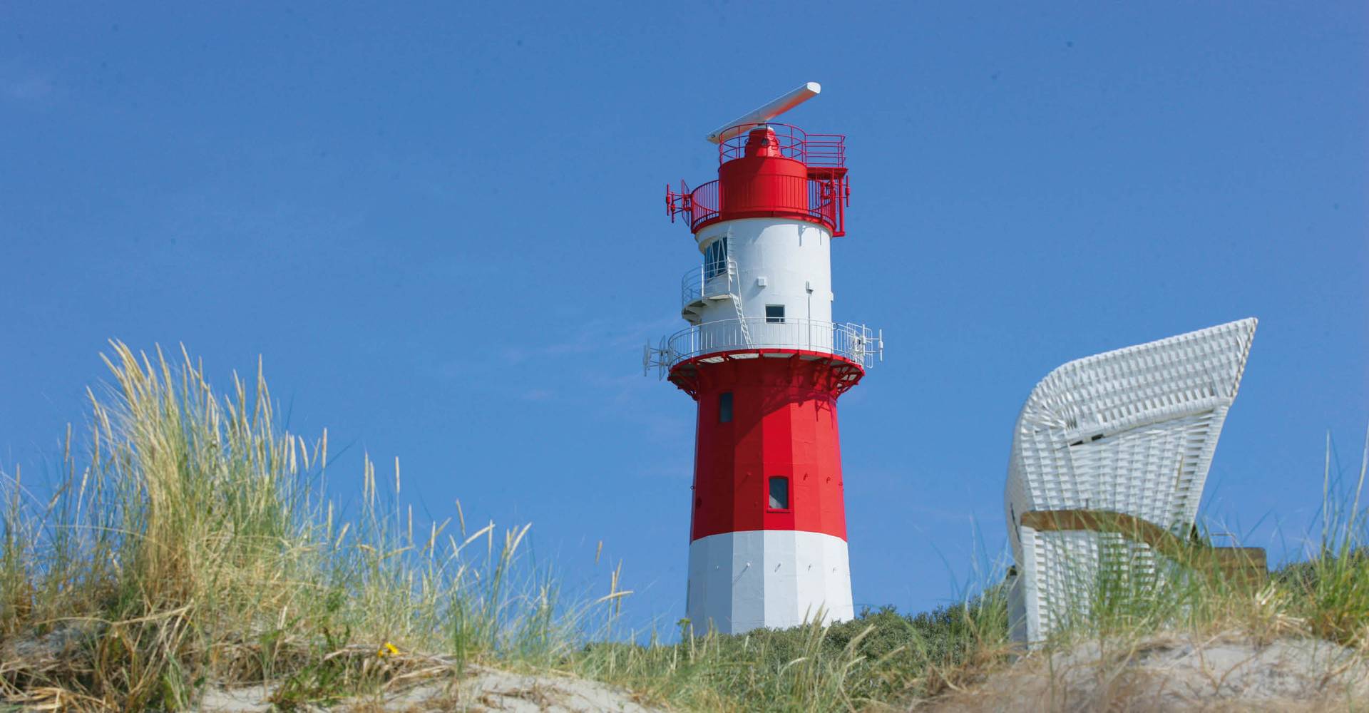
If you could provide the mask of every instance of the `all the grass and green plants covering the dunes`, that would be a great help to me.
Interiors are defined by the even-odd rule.
[[[327,435],[281,430],[260,374],[219,396],[183,353],[115,343],[107,361],[111,389],[90,393],[89,437],[68,431],[55,489],[36,495],[19,469],[0,480],[0,694],[14,703],[181,709],[209,684],[270,683],[289,710],[483,664],[672,709],[879,710],[972,686],[1014,654],[998,586],[917,616],[738,636],[682,623],[676,643],[626,643],[617,572],[608,595],[563,601],[554,573],[519,556],[527,527],[468,527],[459,505],[415,524],[398,464],[392,482],[366,460],[356,512],[337,506]],[[1328,461],[1325,478],[1306,561],[1262,586],[1180,565],[1103,576],[1091,616],[1053,643],[1177,628],[1369,650],[1365,469],[1338,487]]]

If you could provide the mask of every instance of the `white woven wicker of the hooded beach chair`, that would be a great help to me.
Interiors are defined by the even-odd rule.
[[[1016,638],[1040,640],[1087,613],[1102,549],[1129,547],[1136,576],[1155,569],[1144,543],[1038,532],[1019,526],[1020,515],[1110,510],[1184,535],[1254,333],[1254,319],[1220,324],[1071,361],[1036,385],[1017,417],[1003,491]]]

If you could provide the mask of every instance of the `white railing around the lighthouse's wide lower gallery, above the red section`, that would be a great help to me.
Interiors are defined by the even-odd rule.
[[[656,349],[648,348],[648,364],[663,372],[687,359],[745,349],[804,349],[849,359],[872,367],[883,359],[883,333],[864,324],[834,324],[813,319],[769,322],[765,317],[723,319],[680,330]]]

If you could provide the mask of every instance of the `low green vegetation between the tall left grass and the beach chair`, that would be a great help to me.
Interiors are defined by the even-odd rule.
[[[865,610],[828,627],[591,645],[576,669],[693,710],[861,710],[941,692],[1006,653],[1001,590],[904,616]]]

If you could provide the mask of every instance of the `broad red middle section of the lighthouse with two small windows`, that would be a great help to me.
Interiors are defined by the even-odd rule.
[[[690,541],[798,530],[846,539],[836,398],[864,370],[801,350],[732,352],[679,364],[695,394]]]

